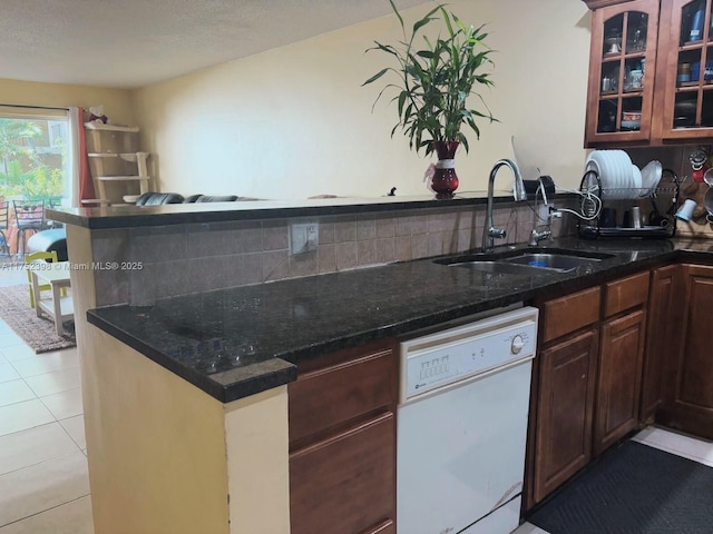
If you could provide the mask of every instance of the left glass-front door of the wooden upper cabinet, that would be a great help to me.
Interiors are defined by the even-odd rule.
[[[633,0],[594,11],[585,146],[651,138],[658,9]]]

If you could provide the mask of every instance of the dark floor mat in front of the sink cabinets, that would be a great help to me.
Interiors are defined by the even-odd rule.
[[[625,442],[527,520],[550,534],[713,534],[713,468]]]

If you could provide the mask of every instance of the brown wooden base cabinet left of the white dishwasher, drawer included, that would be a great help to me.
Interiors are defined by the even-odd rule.
[[[395,534],[394,340],[297,364],[290,403],[292,534]]]

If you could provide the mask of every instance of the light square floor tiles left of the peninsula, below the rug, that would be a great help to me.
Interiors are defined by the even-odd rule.
[[[86,447],[77,349],[35,354],[0,320],[0,534],[94,533]]]

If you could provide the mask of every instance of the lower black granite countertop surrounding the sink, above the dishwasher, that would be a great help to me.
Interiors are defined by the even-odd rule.
[[[560,239],[547,248],[614,257],[568,274],[543,270],[531,276],[420,259],[172,297],[153,306],[110,306],[87,315],[89,323],[227,403],[294,380],[304,358],[543,294],[577,290],[656,264],[713,261],[713,243],[704,240]]]

